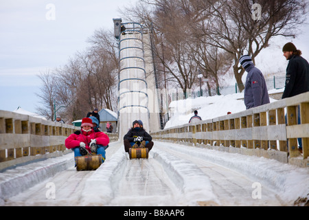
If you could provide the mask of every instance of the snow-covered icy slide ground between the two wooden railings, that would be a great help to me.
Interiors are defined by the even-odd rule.
[[[309,193],[308,169],[273,159],[166,142],[148,159],[128,159],[120,142],[106,152],[95,171],[77,172],[73,153],[6,170],[0,205],[293,206]]]

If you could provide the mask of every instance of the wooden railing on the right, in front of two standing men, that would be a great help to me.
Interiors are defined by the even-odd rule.
[[[300,124],[297,123],[298,113]],[[255,154],[274,159],[280,157],[284,158],[278,159],[282,162],[308,167],[309,92],[240,113],[164,129],[151,135],[155,140],[203,144],[209,148],[223,146],[226,148],[223,151],[236,153],[247,149],[264,149],[268,151],[255,151],[258,152]],[[297,147],[297,138],[302,141],[302,155]],[[231,150],[230,146],[238,148],[238,151]],[[250,154],[249,151],[246,152]],[[298,162],[293,158],[297,158]]]

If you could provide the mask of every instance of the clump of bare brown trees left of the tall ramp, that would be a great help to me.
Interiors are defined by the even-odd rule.
[[[48,118],[54,118],[55,106],[57,114],[73,121],[94,107],[113,111],[117,105],[118,57],[113,34],[96,31],[89,43],[91,47],[77,52],[63,67],[41,74],[43,88],[38,96],[49,110],[40,111]]]

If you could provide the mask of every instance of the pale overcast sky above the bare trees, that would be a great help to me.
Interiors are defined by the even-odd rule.
[[[87,48],[95,30],[113,29],[119,8],[135,2],[0,0],[0,110],[21,106],[35,112],[40,105],[35,93],[42,86],[36,75],[65,65],[70,56]],[[303,30],[293,42],[309,60],[308,25]]]

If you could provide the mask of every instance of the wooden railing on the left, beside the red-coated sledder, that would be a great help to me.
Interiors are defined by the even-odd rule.
[[[0,110],[0,170],[70,153],[65,139],[78,129],[80,127]],[[117,134],[108,134],[108,137],[111,142],[118,140]]]

